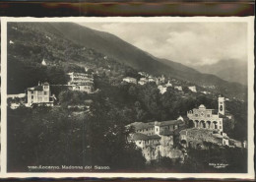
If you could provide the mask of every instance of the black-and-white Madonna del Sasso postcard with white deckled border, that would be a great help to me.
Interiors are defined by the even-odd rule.
[[[2,18],[2,175],[253,179],[253,24]]]

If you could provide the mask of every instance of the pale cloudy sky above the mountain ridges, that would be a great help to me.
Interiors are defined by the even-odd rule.
[[[81,23],[188,66],[247,61],[246,23]]]

